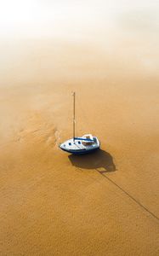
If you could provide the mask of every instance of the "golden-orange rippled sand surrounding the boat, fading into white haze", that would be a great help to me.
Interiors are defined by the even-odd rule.
[[[3,48],[0,254],[158,255],[156,70],[124,47],[114,55],[66,41]],[[58,148],[72,137],[74,90],[77,136],[99,137],[96,154]]]

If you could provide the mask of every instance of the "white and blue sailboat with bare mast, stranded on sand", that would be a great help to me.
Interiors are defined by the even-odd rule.
[[[82,137],[76,137],[75,100],[76,93],[73,92],[73,137],[65,141],[65,143],[61,143],[60,149],[71,154],[89,154],[99,149],[100,143],[98,138],[94,137],[92,134],[86,134]]]

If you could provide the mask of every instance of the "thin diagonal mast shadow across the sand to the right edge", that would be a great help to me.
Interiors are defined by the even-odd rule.
[[[98,169],[95,169],[97,172],[99,172]],[[150,212],[149,209],[147,209],[145,206],[143,206],[139,201],[137,201],[133,195],[130,195],[127,191],[125,191],[124,189],[122,189],[117,183],[115,183],[110,177],[105,176],[103,173],[99,172],[100,175],[102,175],[103,177],[107,178],[111,183],[113,183],[118,189],[122,190],[123,193],[125,193],[126,195],[128,195],[129,198],[131,198],[133,201],[135,201],[135,203],[137,203],[139,205],[139,207],[142,207],[146,212],[149,212],[150,215],[154,218],[156,218],[157,220],[159,220],[159,218],[153,213]]]

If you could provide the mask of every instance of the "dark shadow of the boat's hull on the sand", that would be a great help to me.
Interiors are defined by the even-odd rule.
[[[105,172],[115,172],[116,166],[113,157],[105,150],[99,149],[92,154],[76,155],[70,154],[68,156],[72,166],[82,169],[95,169],[101,174]],[[99,171],[99,169],[101,169]]]

